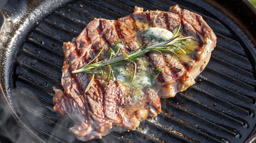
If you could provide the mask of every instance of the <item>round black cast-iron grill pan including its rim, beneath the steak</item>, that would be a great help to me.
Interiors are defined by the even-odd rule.
[[[9,0],[0,11],[1,105],[7,110],[0,113],[8,112],[20,129],[12,141],[81,142],[69,132],[73,121],[53,110],[52,87],[63,89],[62,43],[94,17],[117,20],[134,6],[168,11],[176,4],[202,15],[217,36],[205,70],[186,91],[161,99],[162,112],[137,130],[88,142],[245,142],[256,126],[256,10],[245,0]]]

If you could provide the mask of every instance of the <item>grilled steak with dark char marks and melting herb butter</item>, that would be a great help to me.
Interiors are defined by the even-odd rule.
[[[154,45],[154,40],[163,40],[145,36],[150,27],[175,33],[180,24],[178,35],[193,37],[185,43],[188,48],[174,49],[175,55],[156,50],[142,55],[144,58],[136,61],[138,74],[133,82],[126,77],[133,72],[130,62],[115,65],[113,79],[72,72],[92,61],[101,50],[93,62],[108,60],[110,48],[117,45],[121,47],[120,53],[130,53],[144,44]],[[215,45],[216,36],[202,17],[177,5],[168,12],[143,12],[143,8],[135,7],[134,13],[117,21],[94,19],[74,42],[63,45],[64,91],[53,88],[54,109],[74,120],[70,131],[83,141],[101,138],[112,131],[134,130],[142,120],[161,112],[160,97],[173,97],[195,83],[194,78],[207,65]]]

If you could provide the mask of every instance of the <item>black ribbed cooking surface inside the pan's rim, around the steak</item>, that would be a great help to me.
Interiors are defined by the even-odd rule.
[[[142,121],[136,131],[89,142],[244,142],[256,125],[255,77],[245,44],[213,14],[180,0],[79,0],[39,21],[14,64],[12,105],[19,118],[46,142],[79,142],[68,129],[72,120],[53,110],[53,86],[63,89],[63,42],[77,37],[95,17],[117,20],[134,6],[168,11],[175,4],[201,14],[217,35],[209,64],[195,85],[161,99],[157,118]]]

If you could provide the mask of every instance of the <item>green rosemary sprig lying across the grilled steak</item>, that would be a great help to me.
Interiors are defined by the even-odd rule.
[[[158,42],[155,43],[151,46],[147,46],[147,45],[143,45],[141,47],[139,47],[138,49],[130,52],[130,53],[124,53],[124,54],[120,54],[119,51],[121,49],[121,46],[119,45],[119,41],[117,41],[117,43],[115,44],[114,49],[116,49],[116,53],[114,53],[114,50],[112,48],[110,48],[111,54],[110,54],[110,58],[106,61],[99,61],[96,63],[92,63],[103,51],[104,46],[102,47],[102,49],[99,51],[99,53],[94,57],[93,60],[91,60],[88,64],[86,64],[83,68],[72,71],[72,73],[79,73],[79,72],[85,72],[88,74],[92,74],[92,79],[90,80],[90,82],[88,83],[88,86],[86,87],[84,92],[87,92],[89,90],[89,88],[91,87],[91,85],[93,84],[94,81],[94,77],[95,74],[106,74],[105,72],[103,72],[102,67],[103,66],[107,66],[109,69],[108,72],[108,76],[107,79],[110,78],[110,76],[112,75],[112,79],[114,80],[114,73],[113,73],[113,69],[111,67],[111,65],[120,63],[120,62],[124,62],[124,61],[130,61],[134,64],[134,73],[132,76],[132,82],[135,79],[135,75],[136,75],[136,70],[137,70],[137,64],[134,62],[134,60],[140,60],[143,57],[139,57],[147,52],[151,52],[151,51],[157,51],[160,52],[162,54],[162,52],[164,53],[169,53],[172,54],[174,56],[179,57],[179,55],[177,55],[175,52],[173,52],[171,49],[173,48],[178,48],[179,50],[181,50],[183,53],[185,53],[185,51],[183,49],[181,49],[181,47],[176,46],[174,44],[176,43],[181,43],[185,48],[188,49],[188,47],[182,43],[188,39],[191,39],[192,37],[185,37],[185,38],[181,38],[181,39],[177,39],[179,36],[176,36],[180,30],[180,27],[177,29],[176,34],[173,36],[172,39],[167,40],[167,41],[163,41],[163,42]],[[114,55],[114,56],[113,56]],[[98,71],[100,70],[100,71]],[[158,74],[160,73],[160,71],[162,71],[162,69],[157,68],[158,72],[156,72],[153,76],[153,79],[155,80],[155,78],[158,76]]]

